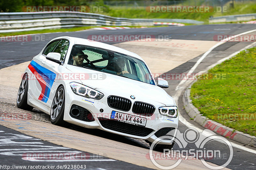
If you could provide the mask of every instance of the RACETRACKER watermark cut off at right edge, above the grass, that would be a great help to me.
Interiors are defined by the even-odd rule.
[[[242,42],[242,41],[256,41],[256,35],[214,35],[214,41],[235,41],[235,42]]]

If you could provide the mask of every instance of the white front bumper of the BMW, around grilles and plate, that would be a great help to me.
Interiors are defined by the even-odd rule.
[[[113,109],[111,107],[108,106],[108,102],[107,102],[107,98],[108,96],[104,96],[102,99],[100,100],[94,100],[94,99],[89,99],[89,98],[85,98],[79,95],[76,95],[70,87],[68,87],[69,85],[67,85],[66,88],[66,101],[65,101],[65,112],[64,112],[64,120],[72,123],[72,124],[76,124],[78,126],[82,126],[85,128],[97,128],[97,129],[102,129],[111,133],[115,133],[118,135],[123,135],[126,137],[133,137],[133,138],[139,138],[139,139],[144,139],[144,140],[148,140],[150,142],[153,142],[154,140],[159,139],[158,137],[156,137],[155,133],[162,129],[162,128],[175,128],[176,130],[178,129],[178,121],[179,121],[179,116],[177,118],[169,118],[163,115],[159,114],[158,111],[158,107],[163,107],[165,105],[158,103],[158,105],[153,104],[156,107],[155,113],[152,116],[142,116],[142,115],[138,115],[138,114],[134,114],[132,113],[132,108],[125,112],[125,111],[120,111],[117,109]],[[79,119],[74,118],[74,116],[70,115],[70,110],[72,105],[77,105],[80,107],[85,108],[86,110],[88,110],[90,113],[92,113],[94,121],[92,122],[86,122],[86,121],[82,121]],[[133,101],[132,101],[132,105],[133,105]],[[103,109],[103,112],[100,112],[100,109]],[[101,110],[102,111],[102,110]],[[110,116],[112,111],[117,111],[117,112],[121,112],[121,113],[126,113],[126,114],[130,114],[130,115],[135,115],[135,116],[140,116],[143,118],[147,119],[147,123],[145,128],[147,130],[150,130],[149,133],[147,133],[146,136],[141,136],[141,135],[132,135],[125,133],[125,131],[116,131],[113,130],[113,128],[108,128],[108,126],[106,126],[106,122],[102,122],[102,121],[110,121]],[[113,121],[113,120],[111,120]],[[115,121],[116,122],[116,121]],[[128,124],[128,123],[125,123]],[[130,124],[129,124],[130,126]],[[132,125],[132,126],[136,126],[136,125]],[[132,126],[129,127],[129,129],[132,128]],[[120,124],[118,124],[118,126],[116,126],[116,128],[122,128],[122,126],[120,126]],[[145,129],[144,128],[144,129]],[[115,128],[114,128],[115,129]],[[142,127],[137,127],[137,129],[143,129]],[[176,133],[175,133],[176,134]],[[172,144],[172,140],[164,140],[162,142],[160,142],[159,144]]]

